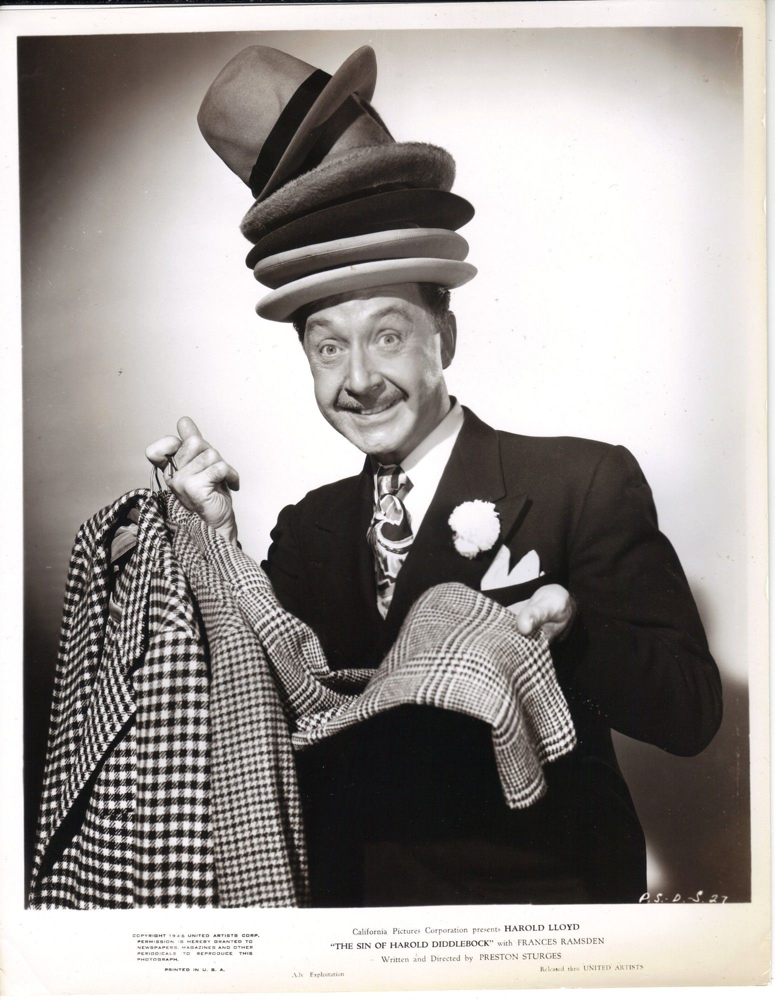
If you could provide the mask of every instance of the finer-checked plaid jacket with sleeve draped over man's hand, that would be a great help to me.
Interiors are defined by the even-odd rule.
[[[472,715],[492,726],[508,805],[525,808],[544,794],[542,765],[572,750],[576,735],[543,634],[523,636],[513,614],[485,595],[441,584],[415,603],[376,671],[331,671],[315,633],[283,609],[261,567],[169,495],[162,501],[210,644],[212,713],[220,720],[212,747],[216,857],[222,865],[228,858],[232,884],[265,857],[255,830],[266,794],[282,802],[293,785],[285,750],[278,761],[264,752],[267,734],[254,721],[262,690],[279,692],[296,747],[402,704]],[[227,607],[239,608],[245,627],[225,628]],[[221,646],[239,662],[228,681],[218,662]],[[265,684],[267,669],[272,685]],[[294,829],[297,816],[294,808]],[[303,842],[300,820],[298,829],[294,844]],[[300,857],[292,853],[291,861]],[[219,891],[223,900],[220,871]],[[251,890],[239,887],[245,891]]]

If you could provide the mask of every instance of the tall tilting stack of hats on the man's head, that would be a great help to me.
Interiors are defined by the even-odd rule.
[[[248,267],[271,289],[256,306],[265,319],[361,288],[456,288],[476,274],[456,232],[474,209],[450,190],[454,160],[393,139],[369,103],[376,78],[369,46],[329,76],[255,45],[205,95],[199,128],[255,198],[240,228]]]

